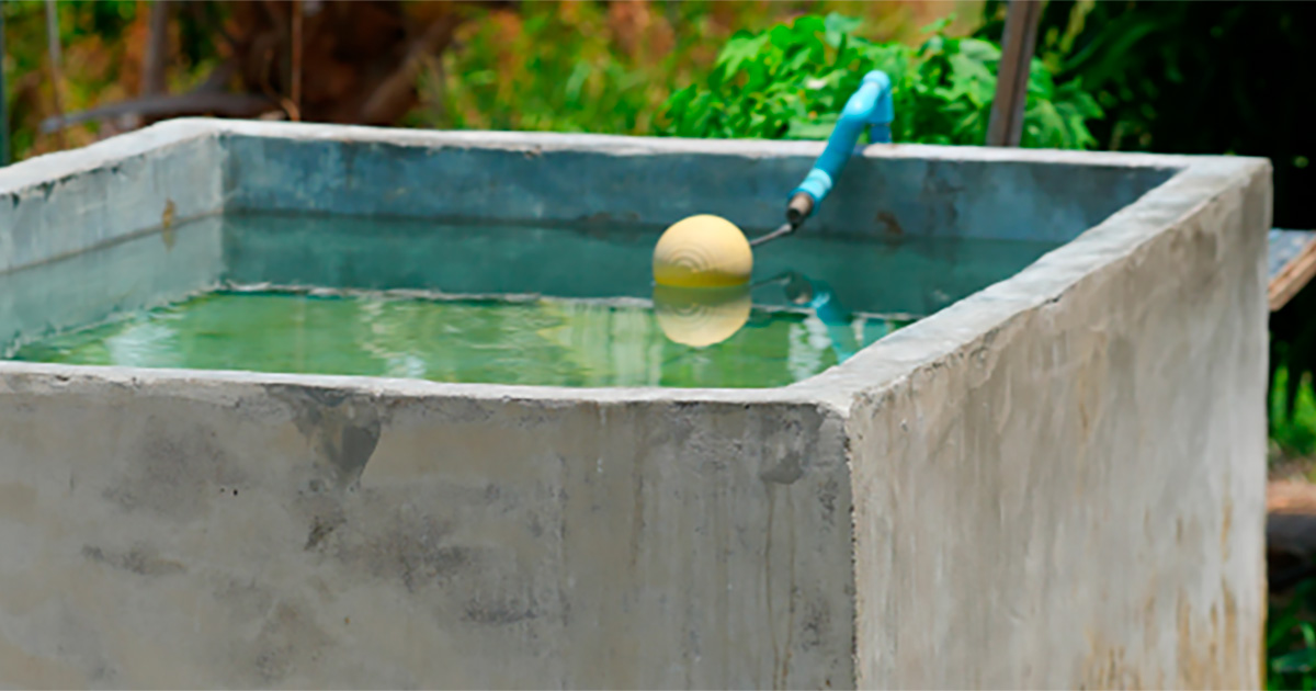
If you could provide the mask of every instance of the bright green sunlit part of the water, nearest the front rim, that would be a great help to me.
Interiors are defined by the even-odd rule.
[[[672,342],[641,301],[220,291],[18,349],[14,359],[540,386],[775,387],[903,322],[828,328],[755,309],[726,341]]]

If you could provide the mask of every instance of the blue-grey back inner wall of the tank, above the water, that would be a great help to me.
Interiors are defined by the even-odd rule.
[[[822,147],[516,133],[363,137],[237,128],[226,134],[225,204],[234,211],[620,222],[655,230],[694,213],[715,213],[762,230],[783,221],[790,191]],[[809,221],[811,232],[1066,242],[1175,172],[1126,163],[969,161],[944,149],[899,145],[866,153],[846,166]]]

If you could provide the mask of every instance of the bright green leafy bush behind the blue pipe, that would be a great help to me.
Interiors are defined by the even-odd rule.
[[[859,20],[804,16],[763,32],[740,32],[704,83],[669,99],[665,134],[826,138],[870,70],[892,79],[898,142],[980,145],[987,136],[1000,47],[946,36],[942,20],[919,47],[873,42]],[[1040,61],[1028,84],[1024,146],[1086,149],[1101,109],[1078,80],[1058,83]]]

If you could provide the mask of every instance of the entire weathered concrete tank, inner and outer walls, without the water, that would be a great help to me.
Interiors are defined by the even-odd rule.
[[[170,200],[770,225],[820,146],[174,121],[0,170],[0,280]],[[819,232],[1069,242],[775,390],[0,362],[0,684],[1259,686],[1269,165],[857,163]]]

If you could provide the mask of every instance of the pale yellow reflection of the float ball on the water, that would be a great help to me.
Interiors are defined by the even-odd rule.
[[[720,344],[749,321],[749,284],[724,288],[654,286],[658,328],[671,341],[694,347]]]

